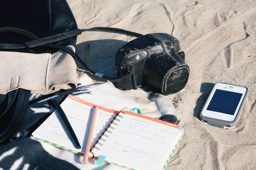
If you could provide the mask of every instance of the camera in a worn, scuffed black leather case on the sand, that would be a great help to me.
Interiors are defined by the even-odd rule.
[[[126,43],[115,56],[117,77],[133,73],[117,82],[117,88],[150,85],[163,95],[180,91],[187,84],[189,66],[184,62],[184,52],[178,53],[179,50],[178,39],[166,33],[146,34]]]

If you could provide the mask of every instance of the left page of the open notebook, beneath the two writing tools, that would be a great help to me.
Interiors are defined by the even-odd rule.
[[[95,105],[72,95],[69,95],[61,103],[61,108],[65,112],[67,119],[78,138],[81,149],[76,149],[74,147],[65,127],[61,121],[59,121],[60,118],[56,110],[37,128],[37,130],[35,130],[35,132],[33,132],[32,135],[35,138],[40,138],[68,149],[84,153],[93,116],[93,106]],[[116,113],[118,112],[98,106],[92,145],[96,142]]]

